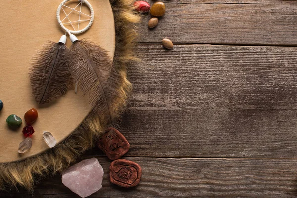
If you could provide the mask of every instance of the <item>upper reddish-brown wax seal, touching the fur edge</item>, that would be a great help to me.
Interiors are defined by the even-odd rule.
[[[99,139],[97,145],[110,160],[121,158],[130,149],[130,144],[123,134],[112,127]]]

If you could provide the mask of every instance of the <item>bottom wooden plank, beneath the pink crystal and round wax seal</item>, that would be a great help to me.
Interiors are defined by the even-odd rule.
[[[99,157],[104,169],[102,189],[90,198],[148,197],[277,197],[297,195],[297,159],[182,159],[127,158],[142,167],[140,184],[131,189],[110,184],[110,161]],[[29,198],[23,190],[2,196]],[[30,197],[30,198],[31,198]],[[36,198],[79,198],[63,186],[61,176],[36,186]]]

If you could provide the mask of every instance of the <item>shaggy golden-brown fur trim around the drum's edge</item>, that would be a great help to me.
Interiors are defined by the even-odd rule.
[[[127,80],[127,64],[136,60],[133,47],[137,32],[135,23],[139,22],[139,15],[134,12],[134,0],[110,0],[116,31],[116,47],[114,65],[122,77],[119,87],[116,107],[119,114],[126,107],[127,97],[132,89]],[[95,145],[102,134],[99,119],[90,114],[82,124],[62,143],[48,151],[17,162],[0,164],[0,190],[25,187],[33,191],[34,183],[50,174],[61,172],[87,149]]]

